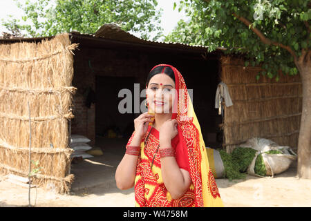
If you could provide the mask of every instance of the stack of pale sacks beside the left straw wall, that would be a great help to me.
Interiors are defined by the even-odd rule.
[[[70,139],[70,148],[73,148],[74,152],[71,154],[71,157],[82,157],[83,159],[94,157],[91,154],[86,153],[86,151],[91,150],[91,146],[87,143],[91,140],[83,135],[71,135]]]

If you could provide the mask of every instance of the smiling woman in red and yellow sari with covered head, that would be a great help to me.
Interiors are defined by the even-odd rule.
[[[160,64],[146,89],[148,112],[134,119],[115,173],[117,187],[135,186],[135,206],[223,206],[182,75]],[[152,122],[149,111],[152,126],[146,124]]]

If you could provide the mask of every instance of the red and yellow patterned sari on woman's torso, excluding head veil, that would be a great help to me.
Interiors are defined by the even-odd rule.
[[[151,131],[146,146],[142,149],[142,153],[138,159],[135,179],[135,205],[140,207],[192,207],[195,206],[196,195],[194,193],[194,185],[189,186],[188,191],[177,200],[171,198],[171,194],[167,191],[162,180],[161,160],[159,151],[156,150],[159,145],[159,131],[156,128],[149,126],[146,135],[142,142],[147,138],[147,134]],[[133,140],[132,134],[128,144]],[[171,146],[174,148],[179,142],[179,137],[176,136],[171,140]],[[153,161],[153,157],[154,161]],[[176,150],[176,162],[180,169],[189,171],[189,162],[186,150],[178,148]],[[153,166],[151,169],[151,162]]]

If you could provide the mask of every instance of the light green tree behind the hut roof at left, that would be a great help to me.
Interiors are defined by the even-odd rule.
[[[15,0],[25,12],[22,24],[10,17],[3,21],[8,30],[25,30],[26,36],[51,36],[73,30],[93,34],[104,23],[117,23],[122,30],[133,31],[143,39],[149,39],[150,32],[157,32],[153,40],[162,35],[160,11],[156,0]]]

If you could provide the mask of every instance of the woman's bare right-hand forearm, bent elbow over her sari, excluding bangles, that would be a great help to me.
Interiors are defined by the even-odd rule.
[[[160,140],[160,148],[171,148],[171,140]],[[181,198],[191,185],[188,171],[180,169],[175,157],[161,158],[162,179],[173,199]]]

